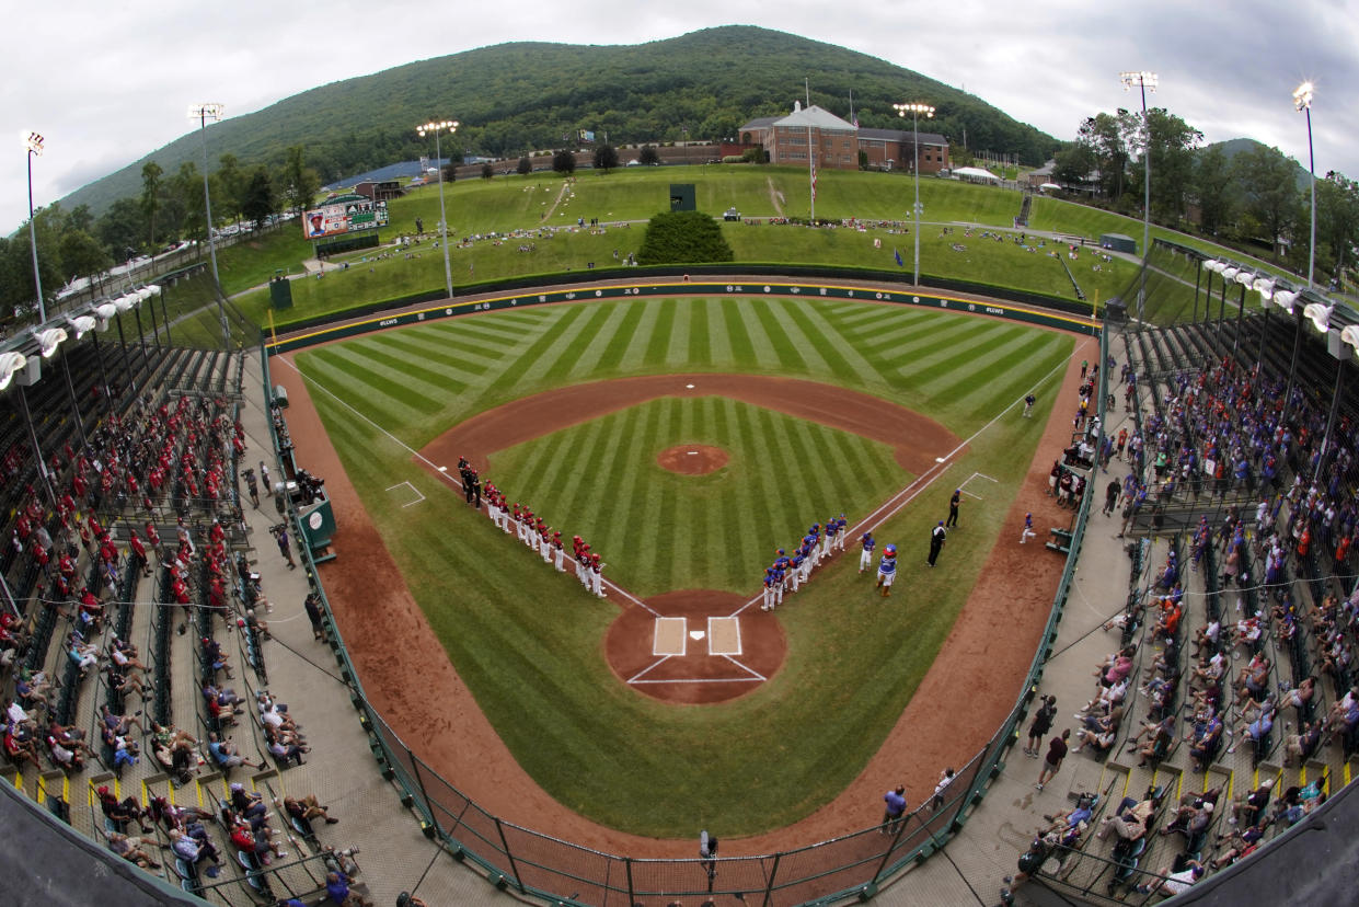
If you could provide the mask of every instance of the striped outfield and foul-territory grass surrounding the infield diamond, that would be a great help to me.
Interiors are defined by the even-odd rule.
[[[966,600],[1042,420],[1010,408],[969,441],[940,483],[879,530],[885,543],[902,545],[904,582],[890,604],[841,559],[779,612],[790,646],[783,669],[747,696],[692,708],[656,702],[613,677],[602,636],[617,604],[587,596],[507,543],[440,479],[417,468],[408,450],[326,390],[416,449],[507,400],[678,370],[849,386],[928,413],[968,438],[1031,386],[1041,385],[1045,398],[1056,393],[1055,370],[1072,343],[993,320],[871,303],[636,299],[420,325],[303,351],[298,362],[416,600],[525,770],[567,806],[616,828],[681,836],[697,823],[742,835],[786,825],[828,802],[881,747]],[[606,422],[583,430],[603,432]],[[617,442],[599,443],[631,443],[629,424],[620,413],[607,426]],[[563,443],[553,456],[563,458],[565,475],[584,468],[576,458],[583,451],[583,445]],[[824,480],[794,458],[786,465],[805,466],[786,481]],[[527,466],[520,461],[516,470]],[[609,466],[625,468],[625,458]],[[974,470],[999,480],[995,494],[968,509],[965,529],[945,552],[947,570],[923,570],[928,530],[946,513],[954,480]],[[614,494],[616,479],[593,476],[598,491],[582,499],[601,521],[635,504],[635,495],[621,500]],[[427,504],[404,509],[406,499],[389,498],[385,490],[406,480]],[[752,507],[745,495],[757,490],[752,484],[742,498],[734,491],[724,503]],[[776,503],[799,522],[826,515],[802,513],[802,503],[787,498]],[[764,502],[756,513],[771,506]],[[628,570],[620,563],[624,552],[602,544],[599,551],[610,572]],[[762,567],[764,559],[741,566],[752,594]]]

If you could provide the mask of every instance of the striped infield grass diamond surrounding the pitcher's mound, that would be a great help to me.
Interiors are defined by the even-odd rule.
[[[662,469],[658,454],[681,443],[730,460],[705,476]],[[868,513],[913,477],[887,445],[718,397],[654,400],[537,438],[492,457],[489,475],[544,518],[569,517],[563,534],[610,552],[610,579],[639,596],[750,593],[776,545]],[[798,475],[810,481],[786,480]]]

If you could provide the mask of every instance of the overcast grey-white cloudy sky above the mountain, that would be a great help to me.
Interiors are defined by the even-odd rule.
[[[0,120],[14,144],[0,155],[0,233],[27,219],[19,136],[30,129],[46,139],[34,160],[42,207],[188,132],[190,102],[242,114],[321,83],[506,41],[637,44],[722,24],[881,57],[1059,139],[1095,112],[1139,103],[1118,72],[1150,69],[1161,90],[1148,101],[1208,141],[1250,136],[1303,166],[1306,122],[1291,92],[1311,79],[1317,171],[1359,178],[1359,0],[63,0],[24,4],[5,22]]]

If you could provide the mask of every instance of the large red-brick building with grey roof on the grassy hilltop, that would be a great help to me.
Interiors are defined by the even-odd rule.
[[[741,126],[741,144],[762,147],[769,163],[807,165],[814,154],[817,167],[858,170],[906,170],[915,166],[913,135],[909,129],[860,129],[817,105],[794,102],[787,117],[758,117]],[[949,169],[949,140],[935,132],[920,133],[920,173]]]

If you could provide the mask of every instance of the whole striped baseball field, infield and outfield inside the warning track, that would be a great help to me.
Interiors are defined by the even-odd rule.
[[[783,827],[864,768],[949,635],[1030,469],[1045,420],[1021,417],[1015,404],[1029,392],[1056,401],[1072,345],[1068,335],[985,317],[696,296],[463,317],[288,354],[275,369],[304,375],[382,545],[519,766],[594,821],[671,838],[700,825],[727,835]],[[686,379],[603,413],[587,405],[639,375]],[[811,382],[832,403],[809,412],[723,392],[742,375]],[[469,420],[563,389],[578,396],[519,426],[519,441],[450,446]],[[834,394],[878,401],[885,420],[915,413],[938,434],[912,432],[909,419],[906,437],[853,431]],[[946,437],[958,443],[927,449]],[[724,451],[726,465],[680,475],[659,462],[686,445]],[[629,594],[587,594],[467,507],[439,470],[455,473],[457,453],[567,537],[588,540]],[[927,570],[930,528],[957,487],[966,491],[959,529],[942,568]],[[754,597],[776,547],[841,511],[855,526],[902,490],[877,530],[902,551],[893,597],[874,594],[849,552],[773,615],[745,612],[742,632],[786,639],[781,662],[747,694],[677,704],[610,665],[610,626],[643,602],[671,590]],[[420,676],[401,683],[397,699],[438,695]],[[440,723],[424,730],[459,730]],[[421,729],[405,736],[420,748]],[[477,770],[440,766],[455,783]]]

